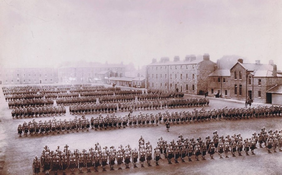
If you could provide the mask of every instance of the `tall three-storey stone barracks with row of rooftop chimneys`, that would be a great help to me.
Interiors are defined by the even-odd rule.
[[[189,94],[202,94],[208,85],[208,75],[215,70],[215,63],[209,54],[203,59],[196,59],[195,55],[187,55],[180,60],[175,56],[173,61],[163,57],[156,59],[146,67],[147,89],[175,90]]]

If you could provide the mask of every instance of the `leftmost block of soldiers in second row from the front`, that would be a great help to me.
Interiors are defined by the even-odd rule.
[[[63,120],[59,120],[57,121],[57,119],[53,120],[49,120],[49,121],[42,121],[40,120],[39,122],[35,121],[35,119],[33,119],[32,121],[29,121],[29,123],[27,123],[26,121],[24,121],[23,125],[19,124],[18,125],[18,135],[19,137],[22,136],[22,134],[24,133],[24,136],[28,136],[29,135],[33,136],[34,134],[37,136],[38,134],[41,135],[49,135],[49,134],[60,134],[60,133],[70,133],[70,132],[79,132],[79,131],[89,131],[90,128],[90,121],[89,119],[86,119],[85,116],[83,115],[81,118],[77,118],[77,116],[71,120],[69,119],[69,121],[67,121],[66,119]]]

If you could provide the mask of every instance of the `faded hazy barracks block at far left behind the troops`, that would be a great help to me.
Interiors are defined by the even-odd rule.
[[[3,68],[0,72],[0,84],[46,84],[58,82],[54,68]]]

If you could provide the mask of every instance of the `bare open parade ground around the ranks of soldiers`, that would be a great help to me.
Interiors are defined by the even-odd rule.
[[[2,87],[2,86],[1,86]],[[204,98],[204,96],[199,95],[185,95],[184,98]],[[205,106],[206,110],[209,109],[218,109],[218,108],[244,108],[245,104],[240,101],[224,100],[218,98],[210,98],[209,106]],[[264,106],[269,104],[259,104],[255,103],[251,107]],[[238,119],[238,120],[221,120],[221,121],[204,121],[196,123],[184,123],[184,124],[171,124],[170,132],[166,131],[166,126],[163,121],[159,126],[145,126],[145,127],[132,127],[129,128],[120,128],[120,129],[107,129],[107,130],[98,130],[89,129],[89,131],[84,132],[74,132],[74,133],[60,133],[60,134],[50,134],[47,135],[38,135],[27,137],[19,137],[17,134],[17,128],[19,124],[23,124],[24,121],[27,123],[32,121],[33,118],[22,118],[22,119],[12,119],[11,109],[8,108],[8,102],[5,101],[2,89],[0,93],[0,174],[3,175],[31,175],[33,174],[32,163],[34,157],[37,155],[41,156],[41,152],[45,146],[48,145],[49,149],[55,149],[58,145],[63,150],[66,144],[69,145],[71,151],[78,148],[79,150],[86,149],[89,150],[90,147],[94,147],[95,143],[98,141],[101,147],[107,145],[110,147],[114,145],[116,149],[122,144],[124,147],[129,143],[132,149],[134,147],[138,148],[138,140],[142,135],[145,142],[150,141],[152,147],[155,148],[159,138],[162,136],[164,140],[168,142],[175,139],[178,139],[180,134],[183,137],[199,138],[201,136],[202,140],[210,135],[213,136],[215,130],[218,131],[219,136],[222,134],[227,136],[230,134],[232,136],[234,133],[238,134],[241,132],[241,136],[244,138],[251,137],[253,132],[256,131],[259,133],[263,126],[266,130],[282,128],[282,116],[274,117],[264,117],[264,118],[252,118],[252,119]],[[200,110],[201,107],[196,107]],[[160,110],[145,110],[145,111],[133,111],[133,115],[138,115],[138,113],[153,113],[169,112],[176,111],[193,111],[193,107],[190,108],[175,108],[175,109],[160,109]],[[128,114],[126,112],[116,112],[116,115],[125,116]],[[89,120],[91,116],[98,116],[99,114],[86,114],[86,118]],[[102,113],[103,116],[107,114]],[[66,106],[66,115],[65,116],[55,116],[57,120],[59,119],[73,119],[75,116],[69,113],[69,106]],[[81,117],[81,115],[78,115]],[[52,120],[53,116],[46,117],[37,117],[35,120],[39,121],[49,121]],[[257,144],[257,149],[255,149],[255,155],[246,156],[245,152],[242,152],[243,156],[238,156],[236,152],[236,157],[232,157],[231,152],[228,153],[228,158],[219,158],[218,153],[214,154],[214,159],[211,160],[209,154],[206,155],[206,160],[202,160],[201,156],[199,157],[200,161],[195,161],[195,155],[192,156],[192,162],[188,162],[188,157],[185,157],[186,162],[168,164],[168,161],[164,158],[164,155],[161,155],[162,159],[159,161],[159,166],[155,166],[154,160],[151,161],[152,167],[148,167],[147,163],[144,162],[145,167],[141,167],[139,160],[137,162],[138,168],[133,168],[133,164],[129,164],[129,169],[125,169],[125,165],[122,164],[122,169],[118,170],[117,163],[114,165],[114,171],[109,171],[109,165],[106,166],[107,171],[102,172],[102,168],[99,167],[99,172],[94,172],[92,167],[91,171],[86,173],[86,169],[83,168],[84,174],[281,174],[282,170],[282,152],[268,153],[267,149],[259,148]],[[154,159],[154,158],[153,158]],[[41,169],[42,170],[42,169]],[[66,171],[66,174],[70,174],[70,170]],[[78,174],[79,171],[76,168],[75,174]],[[40,174],[45,174],[41,172]],[[54,172],[50,171],[50,175],[53,175]],[[58,174],[62,174],[59,170]]]

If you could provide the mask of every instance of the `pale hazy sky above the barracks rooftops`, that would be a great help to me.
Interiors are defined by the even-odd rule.
[[[282,70],[281,0],[0,1],[0,60],[133,62],[209,53],[273,59]]]

